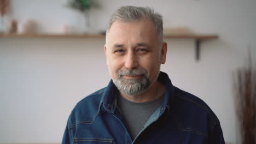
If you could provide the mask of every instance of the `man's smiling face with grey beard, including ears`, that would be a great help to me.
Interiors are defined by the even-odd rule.
[[[165,63],[166,43],[159,43],[154,23],[115,21],[108,31],[105,54],[110,76],[120,91],[137,95],[156,82]],[[125,90],[126,89],[126,90]]]

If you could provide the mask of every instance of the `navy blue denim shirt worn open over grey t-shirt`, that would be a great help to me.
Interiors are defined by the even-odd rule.
[[[161,106],[148,119],[135,140],[126,129],[116,103],[117,88],[106,88],[81,100],[71,112],[62,143],[225,143],[219,120],[201,99],[174,87],[160,72],[165,84]]]

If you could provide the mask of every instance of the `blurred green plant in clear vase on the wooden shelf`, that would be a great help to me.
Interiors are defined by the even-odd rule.
[[[68,8],[79,11],[84,16],[84,33],[90,33],[90,9],[98,8],[98,4],[94,0],[69,0]]]

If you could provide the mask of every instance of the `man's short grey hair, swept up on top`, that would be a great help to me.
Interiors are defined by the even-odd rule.
[[[123,6],[117,9],[112,16],[110,17],[108,23],[108,29],[106,32],[106,44],[108,43],[108,31],[112,26],[113,22],[116,20],[128,22],[134,20],[142,20],[144,18],[148,18],[152,20],[155,25],[156,32],[158,34],[159,42],[163,41],[162,34],[162,16],[159,13],[155,13],[153,8],[149,7],[135,7],[135,6]]]

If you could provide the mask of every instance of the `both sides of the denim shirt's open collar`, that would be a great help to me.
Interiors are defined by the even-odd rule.
[[[168,109],[170,109],[170,105],[173,101],[173,88],[174,86],[172,85],[171,80],[169,79],[168,75],[162,71],[160,71],[160,74],[158,76],[158,81],[164,83],[165,87],[166,87],[166,92],[165,92],[165,96],[164,96],[164,100],[162,101],[162,110],[165,110],[166,107]],[[114,107],[115,107],[115,98],[116,95],[119,93],[117,87],[115,87],[114,83],[112,80],[109,81],[108,86],[106,87],[101,101],[100,101],[100,105],[99,105],[99,109],[98,111],[100,111],[101,109],[105,109],[108,112],[113,112]]]

